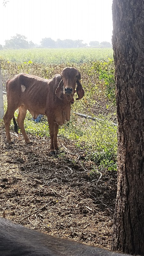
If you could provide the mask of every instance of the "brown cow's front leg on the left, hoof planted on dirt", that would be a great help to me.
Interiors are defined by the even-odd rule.
[[[51,138],[51,144],[50,144],[50,155],[56,155],[55,147],[54,147],[54,135],[55,135],[55,125],[53,118],[47,117],[48,124],[49,124],[49,133]]]

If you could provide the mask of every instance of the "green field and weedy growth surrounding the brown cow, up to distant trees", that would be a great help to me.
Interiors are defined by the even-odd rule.
[[[112,49],[1,50],[0,60],[4,90],[6,80],[20,72],[49,79],[65,67],[76,67],[81,73],[85,95],[74,101],[70,121],[60,127],[59,134],[73,140],[77,150],[83,150],[87,160],[95,163],[95,170],[116,169],[117,119]],[[6,104],[5,99],[5,111]],[[77,113],[92,116],[95,120],[80,117]],[[0,122],[3,124],[2,120]],[[25,128],[27,133],[49,136],[46,118],[37,124],[29,112]]]

